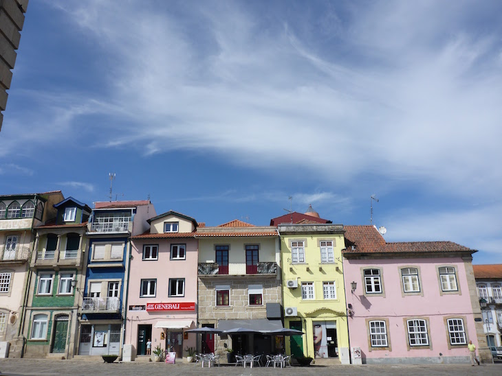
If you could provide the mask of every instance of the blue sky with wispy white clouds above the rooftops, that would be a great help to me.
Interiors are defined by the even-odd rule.
[[[30,1],[0,193],[217,225],[309,204],[502,262],[500,1]]]

